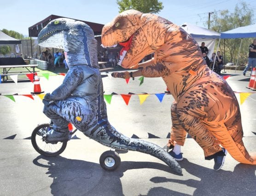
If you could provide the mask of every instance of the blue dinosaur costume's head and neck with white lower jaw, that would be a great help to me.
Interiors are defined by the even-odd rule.
[[[40,31],[38,44],[63,49],[69,66],[88,65],[99,68],[97,40],[93,30],[81,21],[69,18],[52,20]]]

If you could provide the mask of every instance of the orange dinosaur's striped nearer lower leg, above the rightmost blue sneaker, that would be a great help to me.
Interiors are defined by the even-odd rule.
[[[204,124],[204,121],[188,114],[186,111],[179,109],[177,111],[180,124],[204,150],[205,159],[210,160],[216,155],[222,155],[223,151],[218,140],[216,140],[212,133],[209,132],[208,127]]]

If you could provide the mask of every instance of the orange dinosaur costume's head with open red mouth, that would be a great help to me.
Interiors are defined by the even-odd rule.
[[[154,52],[150,34],[146,29],[153,14],[143,14],[136,10],[128,10],[118,14],[111,23],[107,23],[101,34],[103,47],[122,46],[119,64],[124,68],[132,68],[146,55]],[[150,32],[147,32],[150,31]],[[151,35],[150,35],[151,36]]]

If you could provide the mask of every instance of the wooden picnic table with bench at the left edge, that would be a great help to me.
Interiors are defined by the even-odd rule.
[[[3,76],[3,81],[8,80],[8,75],[25,75],[23,74],[24,72],[26,73],[35,73],[35,68],[38,66],[38,64],[30,64],[30,65],[0,65],[0,68],[3,68],[3,72],[1,76]],[[10,69],[13,68],[26,68],[27,71],[10,71]],[[29,69],[29,68],[32,68]],[[12,73],[12,74],[10,74]],[[19,73],[19,74],[13,74],[13,73]]]

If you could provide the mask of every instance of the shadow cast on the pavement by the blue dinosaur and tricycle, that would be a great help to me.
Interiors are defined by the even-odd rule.
[[[155,162],[122,161],[120,167],[112,172],[105,171],[98,163],[67,159],[62,156],[40,155],[33,160],[33,163],[48,168],[46,174],[53,179],[50,186],[52,195],[124,195],[120,178],[130,169],[152,168],[179,175],[172,172],[167,165]],[[154,190],[154,193],[156,191]]]

